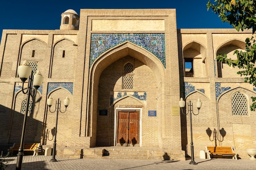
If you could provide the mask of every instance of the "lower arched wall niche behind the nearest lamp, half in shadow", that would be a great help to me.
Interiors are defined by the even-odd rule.
[[[25,91],[27,90],[26,87],[27,83],[24,86]],[[40,109],[41,98],[42,94],[37,91],[36,96],[34,98],[30,97],[29,99],[25,143],[34,143],[41,139],[41,131],[43,129],[43,114]],[[27,95],[23,94],[22,90],[19,90],[14,94],[8,126],[8,141],[10,143],[20,141],[26,104]]]

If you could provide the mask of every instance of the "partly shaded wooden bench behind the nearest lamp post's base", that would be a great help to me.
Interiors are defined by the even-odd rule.
[[[11,146],[8,149],[8,152],[13,155],[13,151],[18,151],[20,148],[20,143],[14,143],[13,146]],[[38,150],[40,148],[40,143],[27,143],[23,144],[24,151],[34,151],[33,156],[38,155]]]

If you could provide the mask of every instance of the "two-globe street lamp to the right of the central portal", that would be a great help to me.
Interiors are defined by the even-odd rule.
[[[182,109],[182,114],[187,115],[188,113],[183,113],[183,108],[185,107],[185,101],[183,100],[183,98],[180,98],[179,105]],[[191,101],[189,100],[188,110],[190,114],[190,134],[191,134],[191,161],[189,162],[189,164],[193,164],[193,165],[197,165],[197,163],[194,161],[194,146],[193,146],[193,136],[192,136],[192,113],[194,115],[199,114],[199,109],[202,106],[202,102],[200,101],[200,99],[196,101],[195,106],[198,108],[197,114],[193,112],[193,103],[191,103]]]

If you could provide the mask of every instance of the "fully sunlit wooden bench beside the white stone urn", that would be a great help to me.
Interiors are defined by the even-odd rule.
[[[207,158],[211,159],[211,156],[232,156],[232,159],[237,160],[237,154],[233,147],[230,146],[206,146]]]

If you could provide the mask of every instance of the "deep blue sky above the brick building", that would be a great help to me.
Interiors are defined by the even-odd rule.
[[[214,0],[211,0],[214,1]],[[176,9],[177,28],[232,28],[207,11],[208,0],[3,0],[0,2],[0,37],[3,29],[55,30],[61,13],[74,9]]]

